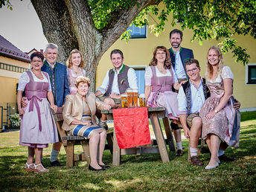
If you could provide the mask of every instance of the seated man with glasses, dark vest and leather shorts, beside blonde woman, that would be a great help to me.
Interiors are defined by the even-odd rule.
[[[205,79],[200,77],[199,62],[190,59],[185,63],[185,69],[189,80],[182,84],[179,89],[179,117],[184,129],[184,135],[189,138],[191,163],[202,166],[203,162],[197,156],[197,145],[201,136],[202,119],[199,117],[199,111],[205,100],[210,97],[210,92],[205,84]],[[240,103],[234,103],[234,108],[239,109]],[[220,144],[219,159],[220,161],[234,161],[225,156],[224,151],[228,147],[224,142]]]

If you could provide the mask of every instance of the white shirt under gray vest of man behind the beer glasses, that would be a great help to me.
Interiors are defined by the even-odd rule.
[[[124,67],[124,64],[121,65],[121,68],[123,68],[123,67]],[[111,94],[120,95],[120,92],[118,89],[118,74],[121,71],[121,68],[118,72],[115,70],[115,68],[113,70],[115,72],[115,75],[114,75]],[[133,68],[129,68],[127,76],[128,76],[129,87],[132,89],[138,89],[137,75]],[[99,88],[97,88],[96,91],[100,91],[102,94],[105,94],[106,89],[108,89],[108,86],[109,86],[109,70],[106,71],[106,76],[103,80],[103,83],[101,84],[101,86]]]

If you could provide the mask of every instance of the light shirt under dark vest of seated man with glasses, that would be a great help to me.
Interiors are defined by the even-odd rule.
[[[205,95],[202,89],[202,77],[199,87],[196,87],[196,85],[192,83],[191,80],[189,81],[191,83],[191,111],[189,112],[189,114],[191,114],[200,111],[202,104],[205,103]],[[177,98],[179,102],[178,114],[187,114],[187,98],[182,86],[179,88],[179,94]]]

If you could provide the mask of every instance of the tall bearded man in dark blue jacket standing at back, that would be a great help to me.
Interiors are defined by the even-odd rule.
[[[175,71],[175,75],[179,80],[179,83],[182,81],[188,80],[188,74],[185,71],[185,62],[191,58],[193,58],[193,51],[188,48],[182,48],[182,31],[178,29],[174,29],[170,31],[170,45],[172,48],[169,49],[170,59],[173,65],[173,69]],[[176,156],[182,156],[182,132],[180,127],[177,124],[171,123],[170,126],[173,129],[173,135],[176,140],[177,150]]]

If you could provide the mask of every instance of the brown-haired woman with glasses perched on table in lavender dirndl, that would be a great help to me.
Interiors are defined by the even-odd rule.
[[[170,63],[170,55],[164,46],[156,47],[153,59],[145,71],[145,99],[150,107],[161,106],[166,109],[166,115],[171,120],[179,121],[177,93],[180,84]]]

